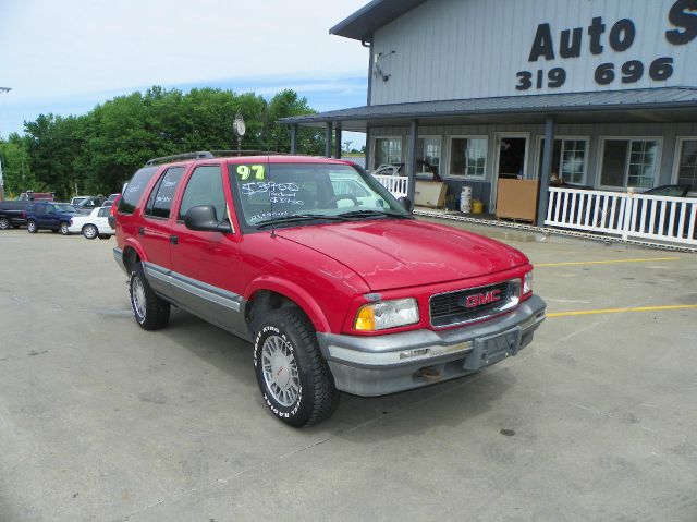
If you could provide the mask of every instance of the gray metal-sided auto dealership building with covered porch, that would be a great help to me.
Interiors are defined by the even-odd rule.
[[[328,155],[365,132],[368,170],[487,211],[501,179],[697,192],[697,0],[375,0],[330,33],[368,48],[367,105],[284,120]]]

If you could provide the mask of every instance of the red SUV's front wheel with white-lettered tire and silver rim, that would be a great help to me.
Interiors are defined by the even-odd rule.
[[[339,391],[310,323],[295,308],[281,308],[260,321],[254,366],[271,413],[293,427],[331,416]]]

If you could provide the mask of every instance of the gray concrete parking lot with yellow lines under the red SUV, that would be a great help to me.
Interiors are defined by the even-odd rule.
[[[537,265],[534,343],[303,430],[249,344],[136,326],[113,239],[0,231],[0,521],[697,520],[697,257],[476,230]]]

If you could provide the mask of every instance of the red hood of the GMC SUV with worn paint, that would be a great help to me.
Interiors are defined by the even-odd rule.
[[[342,263],[374,291],[467,279],[528,262],[498,241],[406,219],[299,227],[276,234]]]

